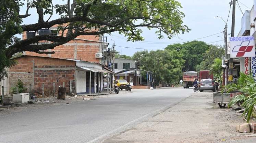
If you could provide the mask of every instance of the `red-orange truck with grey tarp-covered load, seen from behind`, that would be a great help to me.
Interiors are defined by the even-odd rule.
[[[194,81],[197,79],[197,72],[183,72],[183,88],[188,89],[194,85]]]

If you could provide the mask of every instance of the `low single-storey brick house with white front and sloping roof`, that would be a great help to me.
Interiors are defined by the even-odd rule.
[[[18,79],[24,83],[26,92],[56,94],[59,86],[67,88],[67,94],[96,93],[103,90],[104,73],[112,73],[98,63],[81,60],[23,55],[16,58],[18,64],[10,68],[9,85],[16,85]],[[91,83],[91,84],[89,84]],[[99,86],[98,86],[99,85]],[[54,90],[55,89],[55,90]]]

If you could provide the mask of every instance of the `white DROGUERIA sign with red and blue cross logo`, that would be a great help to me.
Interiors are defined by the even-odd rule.
[[[255,57],[254,37],[230,37],[230,57]]]

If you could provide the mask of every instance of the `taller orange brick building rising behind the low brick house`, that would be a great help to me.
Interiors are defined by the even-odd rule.
[[[51,31],[57,30],[57,26],[50,28]],[[23,32],[23,39],[26,39],[27,32]],[[65,33],[65,32],[64,32]],[[56,34],[56,33],[51,33]],[[59,32],[56,35],[60,35]],[[34,55],[40,57],[51,57],[61,59],[77,59],[88,62],[96,62],[102,64],[102,57],[96,58],[96,53],[102,53],[102,47],[106,49],[109,43],[102,42],[100,35],[81,35],[77,36],[70,42],[56,46],[54,49],[48,49],[46,51],[54,51],[54,54],[38,54],[36,52],[25,51],[25,55]],[[38,44],[49,44],[49,41],[40,41]],[[104,46],[103,46],[104,45]]]

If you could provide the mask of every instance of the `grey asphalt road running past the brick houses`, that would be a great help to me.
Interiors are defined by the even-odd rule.
[[[121,91],[96,100],[56,105],[0,117],[0,142],[102,142],[161,113],[193,89]]]

